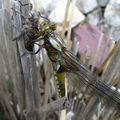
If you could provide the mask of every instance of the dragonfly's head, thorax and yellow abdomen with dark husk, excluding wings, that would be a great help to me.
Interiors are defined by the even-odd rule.
[[[43,18],[43,21],[39,19]],[[19,36],[13,40],[17,40],[20,37],[24,38],[25,49],[30,54],[37,54],[41,48],[45,48],[48,52],[48,56],[53,63],[56,83],[60,96],[65,96],[64,78],[65,75],[62,72],[58,72],[60,54],[62,51],[63,41],[59,37],[56,30],[56,24],[50,22],[48,18],[43,17],[40,13],[32,14],[28,18],[23,26],[23,30]],[[42,44],[38,42],[42,41]],[[38,49],[34,51],[34,45],[38,46]],[[63,76],[62,80],[60,76]]]

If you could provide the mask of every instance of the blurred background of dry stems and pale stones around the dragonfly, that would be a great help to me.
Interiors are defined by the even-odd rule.
[[[110,85],[120,104],[120,0],[0,0],[0,120],[119,120],[118,104],[106,107],[108,99],[89,86],[77,89],[74,75],[65,77],[72,82],[64,83],[70,102],[64,109],[46,50],[24,56],[24,37],[12,41],[36,12],[56,24],[64,46]]]

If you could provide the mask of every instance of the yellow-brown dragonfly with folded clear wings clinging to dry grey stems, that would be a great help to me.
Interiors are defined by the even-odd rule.
[[[40,15],[40,17],[42,16]],[[67,50],[63,39],[55,32],[55,23],[49,21],[48,18],[42,18],[45,21],[40,23],[38,18],[31,17],[30,26],[22,34],[26,39],[24,44],[26,50],[33,54],[37,54],[42,48],[46,49],[53,64],[60,96],[65,96],[65,74],[72,73],[78,78],[77,81],[75,81],[76,79],[73,79],[72,82],[69,80],[69,83],[73,83],[72,86],[75,83],[77,86],[74,85],[74,87],[77,87],[78,90],[81,90],[83,86],[88,87],[92,94],[105,101],[108,106],[115,107],[116,111],[120,111],[120,93],[84,67],[76,56]],[[34,21],[36,21],[37,26]],[[42,41],[42,44],[39,44],[39,41]],[[36,52],[34,52],[35,44],[39,46]]]

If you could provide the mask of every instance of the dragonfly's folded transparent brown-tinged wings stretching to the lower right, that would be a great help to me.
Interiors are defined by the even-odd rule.
[[[70,51],[64,49],[62,59],[64,59],[62,67],[67,71],[70,78],[68,81],[73,87],[79,90],[87,87],[92,94],[106,101],[107,105],[120,110],[120,93],[117,90],[113,90],[111,86],[86,69]]]

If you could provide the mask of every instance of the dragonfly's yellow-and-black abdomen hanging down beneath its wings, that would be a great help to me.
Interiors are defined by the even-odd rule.
[[[60,97],[64,97],[65,96],[65,72],[59,71],[59,68],[57,68],[57,64],[59,64],[59,60],[61,59],[60,51],[53,48],[50,44],[46,44],[45,49],[47,50],[48,57],[53,63],[58,94]]]

